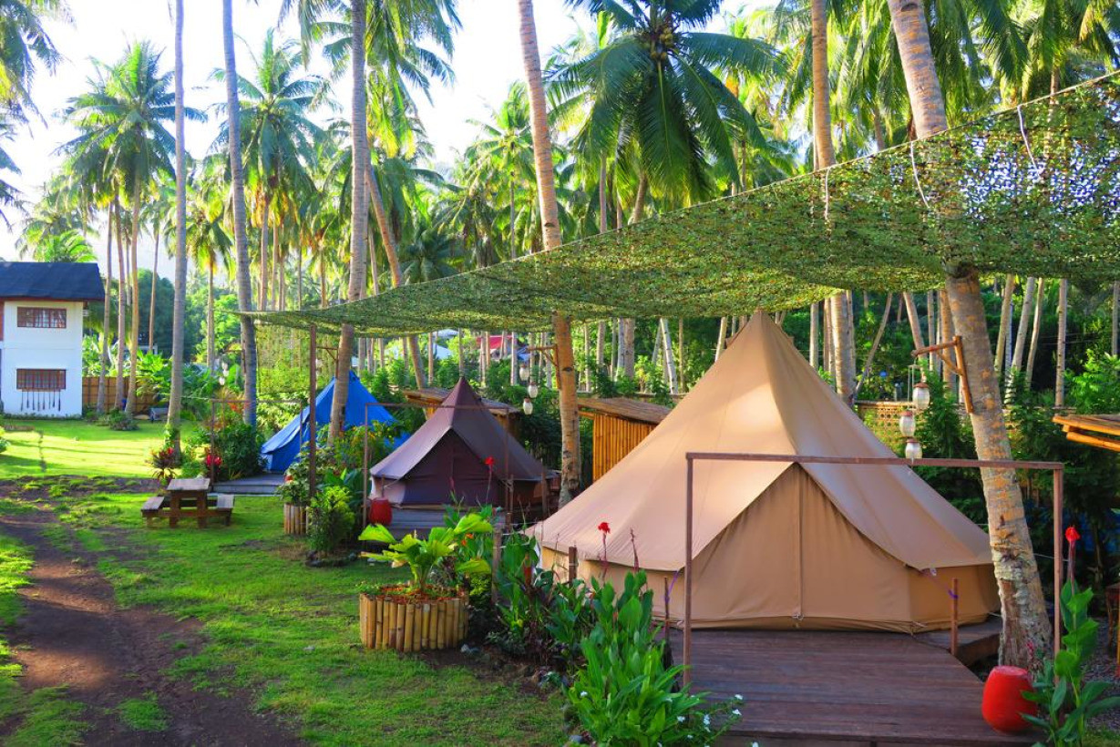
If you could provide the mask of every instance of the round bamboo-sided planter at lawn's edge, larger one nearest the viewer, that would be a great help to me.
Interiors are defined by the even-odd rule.
[[[467,637],[467,595],[457,595],[436,601],[358,595],[362,644],[401,652],[458,647]]]

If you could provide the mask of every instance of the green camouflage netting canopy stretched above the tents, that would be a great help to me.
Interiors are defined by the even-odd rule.
[[[489,268],[258,315],[393,336],[802,307],[944,269],[1120,279],[1120,74],[932,138]]]

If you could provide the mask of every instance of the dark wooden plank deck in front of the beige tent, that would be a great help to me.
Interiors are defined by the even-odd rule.
[[[980,716],[982,684],[937,645],[890,633],[694,631],[692,680],[743,695],[727,744],[1021,745]],[[681,634],[672,634],[681,661]]]

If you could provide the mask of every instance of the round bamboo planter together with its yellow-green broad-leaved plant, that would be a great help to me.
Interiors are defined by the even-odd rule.
[[[407,566],[412,579],[407,583],[382,583],[358,596],[362,643],[366,648],[422,651],[451,648],[467,635],[467,592],[440,586],[433,572],[451,566],[461,576],[488,573],[489,563],[478,554],[478,543],[468,538],[493,527],[480,514],[469,513],[455,526],[437,526],[421,540],[416,532],[396,541],[382,524],[371,524],[360,540],[389,547],[366,558],[388,561],[393,568]]]

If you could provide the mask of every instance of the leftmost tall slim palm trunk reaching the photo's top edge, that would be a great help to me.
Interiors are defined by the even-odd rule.
[[[167,430],[172,448],[179,450],[179,421],[183,413],[183,366],[186,364],[183,326],[187,314],[187,150],[186,109],[183,90],[183,4],[175,0],[175,301],[171,311],[171,392],[167,403]],[[158,253],[158,252],[157,252]],[[214,271],[207,288],[207,325],[212,324]],[[155,293],[152,293],[155,298]],[[207,327],[207,353],[213,354],[214,329]],[[213,361],[212,361],[213,363]]]

